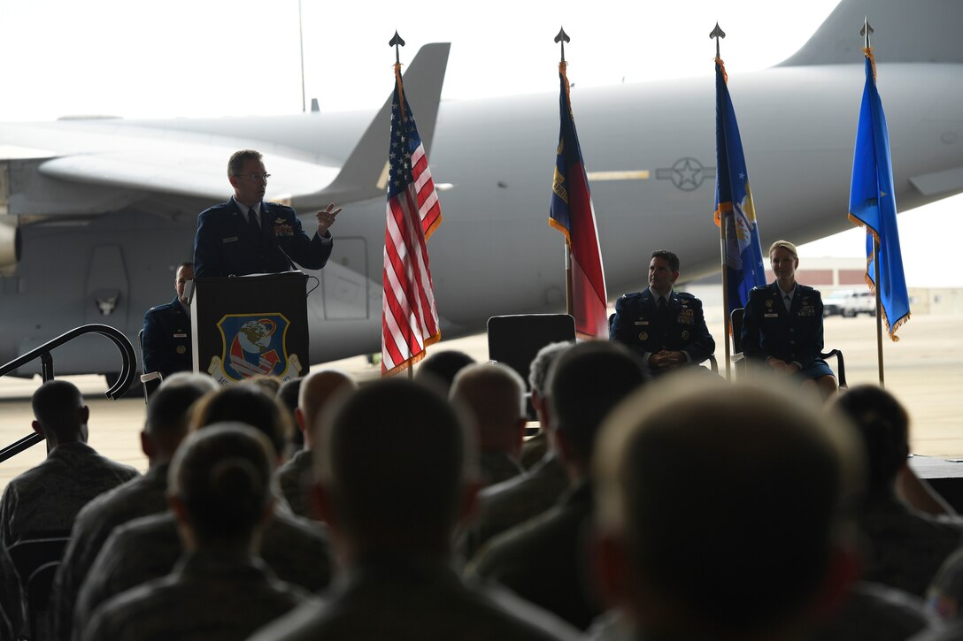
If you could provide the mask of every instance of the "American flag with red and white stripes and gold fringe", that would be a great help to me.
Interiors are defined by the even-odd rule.
[[[441,338],[425,242],[441,224],[428,156],[404,98],[395,65],[388,150],[387,227],[384,234],[384,296],[381,302],[381,373],[401,372]]]

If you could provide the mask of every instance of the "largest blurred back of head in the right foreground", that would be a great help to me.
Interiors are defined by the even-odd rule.
[[[797,394],[683,374],[627,398],[592,461],[627,570],[690,622],[767,629],[812,603],[861,480],[851,427]]]

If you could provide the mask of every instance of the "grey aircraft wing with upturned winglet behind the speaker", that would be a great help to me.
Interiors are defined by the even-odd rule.
[[[423,46],[404,73],[409,96],[416,96],[412,103],[418,106],[419,129],[426,147],[433,139],[450,46]],[[390,115],[389,93],[343,162],[325,160],[324,152],[310,154],[283,144],[251,141],[252,132],[270,130],[267,118],[238,118],[238,129],[225,129],[221,135],[178,129],[176,122],[160,128],[149,122],[114,118],[78,118],[28,125],[16,131],[11,128],[5,136],[20,139],[30,148],[10,143],[0,147],[0,163],[22,163],[18,165],[21,173],[36,171],[46,180],[25,181],[22,192],[17,194],[14,186],[8,197],[0,200],[10,202],[11,214],[40,216],[84,215],[93,210],[104,213],[111,209],[105,199],[129,203],[143,193],[216,202],[229,191],[227,159],[252,144],[264,154],[265,166],[272,174],[273,199],[292,201],[297,206],[364,200],[384,193],[381,177],[385,173]],[[4,155],[4,148],[10,153]],[[93,192],[96,194],[91,195]]]

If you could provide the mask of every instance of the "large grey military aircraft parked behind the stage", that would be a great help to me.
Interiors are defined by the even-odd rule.
[[[764,244],[803,243],[846,221],[872,7],[900,209],[963,191],[963,6],[844,0],[791,58],[730,71]],[[854,26],[855,25],[855,26]],[[449,47],[424,46],[405,90],[429,148],[444,221],[429,243],[447,338],[488,317],[564,308],[563,244],[546,224],[558,93],[441,102]],[[723,56],[724,57],[724,56]],[[610,295],[638,289],[652,249],[687,278],[717,269],[714,85],[705,78],[573,90]],[[85,322],[136,341],[172,297],[196,215],[226,200],[236,149],[265,153],[268,198],[310,213],[346,205],[334,253],[308,272],[311,363],[379,349],[387,103],[377,114],[0,125],[0,363]],[[112,372],[96,339],[61,347],[58,373]],[[20,372],[29,375],[37,367]]]

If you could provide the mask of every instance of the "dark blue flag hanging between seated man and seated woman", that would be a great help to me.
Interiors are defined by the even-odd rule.
[[[729,289],[725,310],[729,318],[732,310],[745,307],[752,288],[766,284],[766,266],[727,81],[725,65],[716,58],[716,224],[727,222],[723,277]]]

